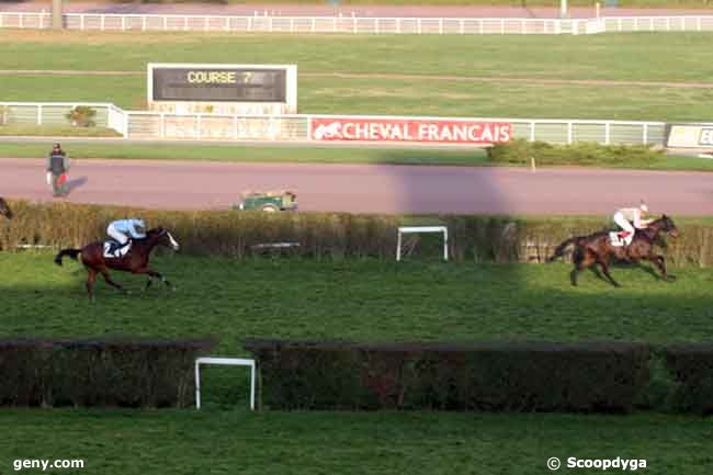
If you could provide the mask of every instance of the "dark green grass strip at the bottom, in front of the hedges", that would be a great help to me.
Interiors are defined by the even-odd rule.
[[[3,473],[18,459],[83,459],[55,472],[70,475],[542,475],[551,456],[706,475],[711,464],[710,421],[663,415],[3,410],[0,423],[12,428]]]

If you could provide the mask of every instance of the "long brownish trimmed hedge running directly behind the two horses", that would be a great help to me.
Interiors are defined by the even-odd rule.
[[[263,252],[252,246],[299,242],[291,252],[316,259],[375,257],[393,259],[396,228],[415,223],[449,227],[450,253],[455,261],[544,262],[554,248],[573,235],[593,233],[610,224],[599,218],[512,218],[501,216],[405,217],[347,213],[162,212],[67,203],[12,202],[12,222],[0,222],[0,248],[23,244],[81,247],[105,236],[115,218],[140,215],[149,226],[170,228],[183,252],[244,258]],[[681,237],[669,239],[670,264],[706,267],[713,262],[713,226],[679,225]],[[422,242],[428,242],[425,239]],[[438,248],[419,249],[438,256]]]

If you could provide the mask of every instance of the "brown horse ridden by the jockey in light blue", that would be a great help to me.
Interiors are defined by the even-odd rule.
[[[103,242],[92,242],[81,249],[63,249],[55,257],[55,263],[61,265],[61,259],[69,256],[71,259],[77,260],[77,256],[81,255],[81,261],[87,268],[89,275],[87,276],[87,293],[89,298],[94,299],[94,280],[97,274],[101,273],[104,281],[113,287],[125,292],[124,287],[112,281],[109,276],[109,269],[118,271],[127,271],[134,274],[148,274],[148,282],[146,282],[145,291],[151,285],[154,278],[159,279],[166,285],[173,289],[173,285],[163,278],[160,273],[148,267],[148,259],[156,246],[165,246],[173,250],[178,250],[179,244],[173,239],[173,236],[161,227],[149,229],[146,237],[143,239],[134,239],[132,248],[128,253],[122,258],[105,258]]]

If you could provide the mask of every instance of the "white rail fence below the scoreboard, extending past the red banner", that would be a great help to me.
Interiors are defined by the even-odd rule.
[[[329,118],[330,115],[218,115],[218,114],[167,114],[159,112],[123,111],[107,103],[69,102],[0,102],[0,120],[7,124],[68,125],[67,112],[77,105],[97,110],[98,126],[113,128],[125,138],[135,139],[205,139],[205,140],[272,140],[312,142],[313,118]],[[346,116],[340,118],[367,118],[370,116]],[[374,116],[371,116],[373,118]],[[439,118],[452,117],[403,117],[378,116],[378,118]],[[452,118],[463,120],[463,117]],[[529,120],[529,118],[474,118],[483,122],[508,122],[512,124],[513,136],[528,140],[553,144],[596,142],[621,145],[664,145],[663,122],[624,121],[578,121],[578,120]],[[327,143],[320,143],[327,144]]]

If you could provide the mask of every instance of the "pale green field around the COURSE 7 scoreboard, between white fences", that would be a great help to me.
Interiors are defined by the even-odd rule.
[[[299,67],[303,113],[701,121],[708,117],[705,104],[713,99],[710,88],[535,81],[705,82],[711,77],[706,61],[711,37],[705,33],[295,37],[3,31],[0,64],[7,70],[137,73],[2,75],[0,100],[109,101],[145,109],[143,73],[149,61],[288,63]],[[660,57],[676,57],[676,61],[660,61]]]

